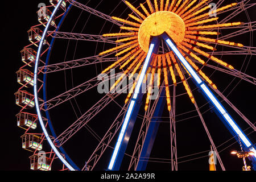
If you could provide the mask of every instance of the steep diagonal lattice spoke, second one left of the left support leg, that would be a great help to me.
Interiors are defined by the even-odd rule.
[[[132,84],[129,84],[131,86]],[[125,90],[127,88],[123,88],[122,90]],[[67,140],[69,140],[74,134],[77,133],[82,127],[84,127],[95,115],[100,113],[102,109],[104,109],[106,106],[108,106],[112,101],[116,103],[114,100],[117,98],[121,92],[115,92],[115,93],[107,93],[104,97],[101,98],[100,101],[98,101],[96,104],[94,104],[92,107],[90,107],[89,110],[87,110],[84,114],[81,115],[79,119],[77,119],[75,122],[72,123],[71,126],[69,126],[63,133],[61,133],[55,140],[59,142],[59,145],[57,147],[62,146]]]

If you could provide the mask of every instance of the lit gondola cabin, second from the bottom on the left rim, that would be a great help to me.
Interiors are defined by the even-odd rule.
[[[28,151],[40,151],[43,148],[42,138],[37,135],[24,134],[20,138],[22,138],[22,148]]]

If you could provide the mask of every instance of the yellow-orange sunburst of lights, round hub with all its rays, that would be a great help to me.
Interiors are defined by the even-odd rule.
[[[202,51],[199,48],[193,47],[191,44],[209,49],[210,51],[215,51],[216,49],[213,46],[205,44],[204,42],[242,47],[243,45],[240,43],[205,37],[205,35],[219,35],[220,33],[218,33],[217,31],[213,31],[214,28],[240,26],[242,22],[204,25],[204,23],[214,22],[218,19],[218,17],[209,17],[207,19],[205,18],[206,16],[218,13],[220,11],[237,5],[237,3],[232,3],[230,5],[221,7],[208,13],[203,13],[205,11],[209,11],[210,6],[208,6],[207,4],[208,1],[209,0],[203,0],[200,3],[197,3],[197,0],[160,0],[159,3],[159,1],[156,0],[146,0],[146,3],[140,4],[139,8],[141,8],[142,11],[140,11],[139,8],[135,8],[128,1],[125,1],[126,5],[129,6],[135,14],[128,15],[128,18],[130,18],[130,20],[117,18],[115,16],[113,16],[112,18],[114,20],[117,20],[118,22],[123,23],[123,26],[120,27],[121,31],[128,30],[130,32],[119,32],[103,35],[117,38],[116,42],[123,44],[121,46],[116,46],[114,48],[101,52],[100,55],[113,52],[116,52],[115,56],[120,56],[122,54],[125,55],[118,58],[115,63],[102,71],[102,73],[108,72],[110,69],[118,66],[120,69],[123,69],[127,66],[127,69],[124,69],[122,76],[115,82],[114,85],[112,85],[110,90],[114,89],[115,86],[123,79],[123,77],[128,75],[128,73],[131,73],[131,75],[129,76],[130,79],[134,76],[136,72],[138,72],[139,67],[143,64],[143,61],[147,55],[151,38],[153,36],[162,35],[163,33],[166,33],[172,40],[174,40],[177,47],[179,47],[180,52],[183,54],[188,63],[191,64],[191,66],[199,73],[199,75],[201,75],[201,77],[203,77],[205,81],[212,85],[214,89],[217,89],[216,85],[213,84],[213,82],[199,69],[199,67],[196,66],[193,60],[189,59],[189,57],[191,56],[193,57],[193,59],[199,61],[199,63],[205,65],[205,61],[199,56],[195,55],[195,52],[197,52],[200,53],[200,55],[203,55],[217,62],[218,64],[223,65],[224,67],[230,69],[234,68],[232,67],[232,65],[229,65],[224,61],[217,59],[217,57],[210,56],[210,54]],[[204,31],[205,29],[208,29],[209,31]],[[172,66],[172,64],[174,64],[174,67]],[[185,69],[184,65],[181,65],[181,68]],[[191,101],[195,103],[195,99],[193,98],[187,81],[185,80],[183,73],[181,72],[179,64],[177,64],[176,62],[174,54],[172,52],[165,53],[164,55],[153,54],[151,66],[148,67],[148,70],[146,71],[146,76],[143,80],[143,82],[146,82],[146,80],[148,79],[148,75],[151,73],[150,83],[147,88],[145,110],[148,109],[148,104],[152,92],[152,85],[154,84],[154,74],[156,72],[158,73],[157,86],[160,86],[161,84],[160,76],[161,72],[163,72],[164,82],[166,84],[165,86],[168,110],[171,109],[171,99],[167,80],[169,73],[167,70],[167,66],[169,67],[170,75],[172,77],[172,82],[174,83],[174,85],[177,85],[175,77],[176,69],[185,89],[187,90],[189,98],[191,98]],[[185,71],[187,71],[187,69],[185,69]],[[188,71],[187,73],[189,74]],[[137,84],[136,80],[125,100],[126,103],[129,101],[131,95],[134,92],[135,86]]]

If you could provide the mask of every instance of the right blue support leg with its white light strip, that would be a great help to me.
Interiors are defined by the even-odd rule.
[[[197,73],[188,63],[188,61],[185,60],[185,58],[181,55],[174,42],[172,42],[172,40],[166,34],[163,34],[162,38],[166,41],[168,46],[170,46],[177,58],[190,73],[191,77],[195,80],[196,85],[203,91],[208,100],[213,104],[220,118],[225,121],[225,126],[227,126],[229,130],[232,130],[236,136],[239,136],[241,138],[241,141],[247,150],[254,152],[254,156],[251,157],[251,160],[254,168],[256,168],[256,150],[254,144],[251,143],[251,141],[246,137],[246,135],[243,133],[243,131],[240,129],[234,119],[228,114],[224,106],[221,105],[220,101],[217,100],[212,91],[208,88],[207,84],[205,84],[205,82],[201,80],[199,75],[197,75]]]

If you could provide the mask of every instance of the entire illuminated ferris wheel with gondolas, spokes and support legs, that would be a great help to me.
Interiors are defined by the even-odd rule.
[[[228,99],[241,82],[256,84],[246,72],[256,55],[248,13],[255,2],[49,2],[39,6],[16,72],[16,116],[25,130],[22,148],[32,152],[30,169],[49,171],[59,159],[61,170],[142,171],[152,161],[177,170],[180,123],[204,133],[202,150],[214,152],[221,170],[225,140],[212,133],[233,136],[256,169],[255,121],[246,117],[253,113]],[[208,115],[224,129],[210,129]]]

